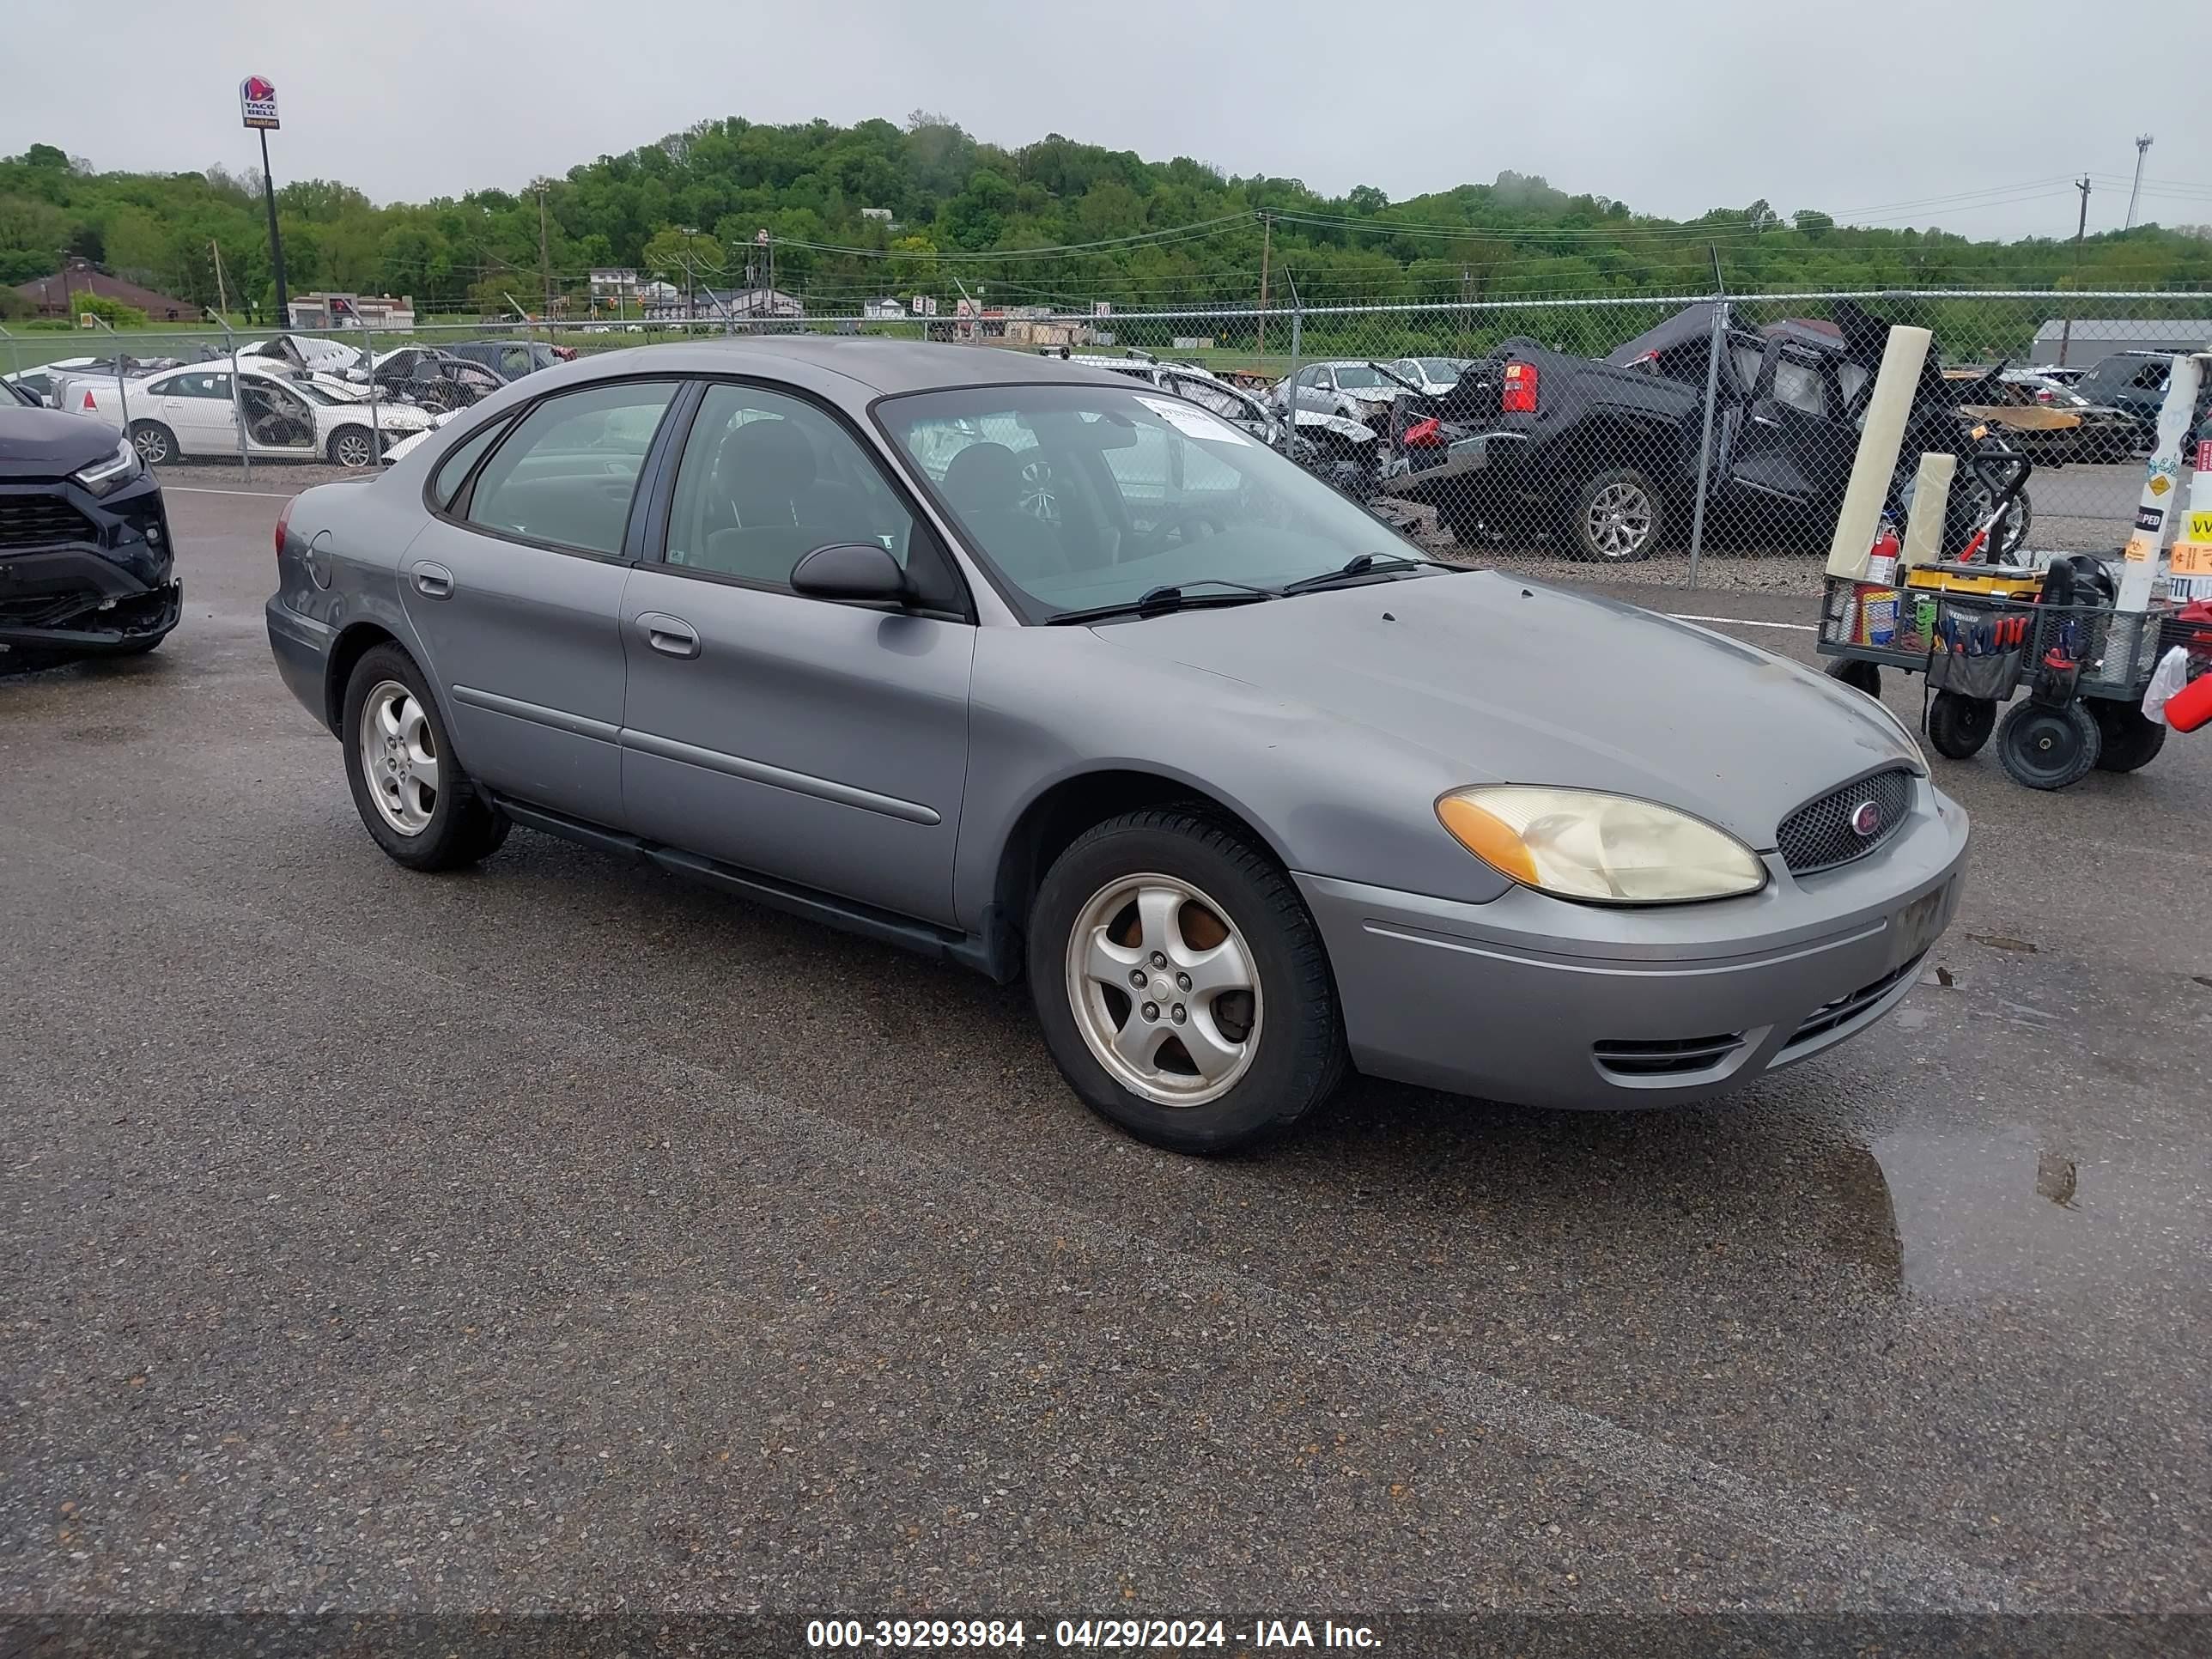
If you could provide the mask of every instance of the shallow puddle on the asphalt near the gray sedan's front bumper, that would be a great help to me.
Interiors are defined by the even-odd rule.
[[[1898,1276],[1916,1294],[2194,1294],[2212,1270],[2203,1168],[2088,1159],[2022,1126],[1885,1135],[1871,1150],[1880,1181],[1858,1197],[1887,1203]]]

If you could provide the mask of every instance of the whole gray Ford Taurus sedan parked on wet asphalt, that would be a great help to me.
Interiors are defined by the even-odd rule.
[[[1037,356],[661,345],[276,531],[276,666],[414,869],[511,825],[1029,973],[1091,1106],[1223,1150],[1347,1066],[1692,1102],[1878,1022],[1966,814],[1880,703],[1420,557]]]

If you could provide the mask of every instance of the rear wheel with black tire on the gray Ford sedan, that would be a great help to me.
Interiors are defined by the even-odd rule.
[[[345,781],[385,854],[409,869],[460,869],[498,852],[511,821],[460,770],[422,670],[374,646],[345,681]]]

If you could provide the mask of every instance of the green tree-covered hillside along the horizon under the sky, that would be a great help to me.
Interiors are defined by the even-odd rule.
[[[902,126],[701,122],[524,190],[378,206],[294,179],[276,201],[294,292],[414,294],[422,312],[460,314],[500,312],[504,294],[540,310],[546,288],[580,310],[595,265],[681,283],[688,261],[699,281],[737,285],[752,257],[761,281],[770,252],[776,288],[812,312],[885,294],[949,307],[962,290],[1006,305],[1250,305],[1263,243],[1274,296],[1287,272],[1310,303],[1692,292],[1710,288],[1714,257],[1736,292],[2212,285],[2205,226],[2141,226],[2077,252],[2064,237],[1854,228],[1765,201],[1670,221],[1517,173],[1409,201],[1371,186],[1325,197],[1060,135],[1000,148],[927,113]],[[0,283],[75,254],[215,305],[217,248],[232,310],[241,296],[268,307],[259,177],[97,173],[51,144],[0,161]]]

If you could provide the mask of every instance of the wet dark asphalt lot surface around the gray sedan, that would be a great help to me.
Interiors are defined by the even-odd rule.
[[[1922,984],[1732,1102],[1201,1164],[956,969],[400,872],[201,489],[0,679],[0,1606],[2212,1613],[2212,741],[1938,761]]]

